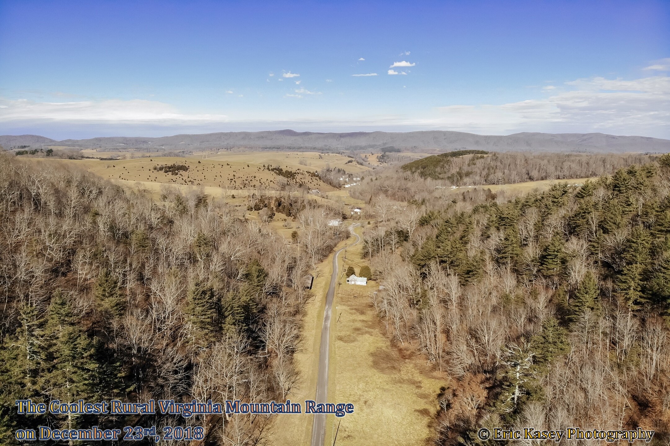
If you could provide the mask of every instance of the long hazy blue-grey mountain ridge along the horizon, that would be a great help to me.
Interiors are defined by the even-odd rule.
[[[424,132],[316,133],[276,130],[179,134],[160,138],[114,136],[55,141],[44,136],[0,136],[6,149],[27,146],[70,146],[106,150],[203,150],[250,148],[274,150],[379,150],[393,146],[413,152],[445,150],[531,150],[547,152],[670,152],[670,140],[602,133],[515,133],[506,136],[431,130]]]

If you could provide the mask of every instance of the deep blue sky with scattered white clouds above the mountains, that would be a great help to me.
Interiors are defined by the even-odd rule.
[[[670,138],[669,73],[668,1],[0,0],[2,134]]]

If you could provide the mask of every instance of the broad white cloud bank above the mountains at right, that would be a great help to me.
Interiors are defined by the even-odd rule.
[[[438,108],[436,126],[468,132],[669,134],[670,77],[602,77],[565,82],[572,90],[501,105]],[[427,123],[428,121],[424,121]]]

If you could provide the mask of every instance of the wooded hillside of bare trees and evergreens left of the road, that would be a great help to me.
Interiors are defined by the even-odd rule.
[[[198,425],[210,443],[263,443],[267,416],[26,417],[14,401],[283,401],[305,274],[347,237],[328,209],[283,200],[304,229],[293,242],[202,193],[155,202],[0,155],[0,444],[40,425]]]

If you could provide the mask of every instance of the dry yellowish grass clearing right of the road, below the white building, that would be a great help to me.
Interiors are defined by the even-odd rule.
[[[359,244],[347,249],[342,271],[352,265],[358,273],[366,263],[360,259],[361,248]],[[344,275],[340,277],[328,400],[354,403],[355,412],[341,419],[337,444],[423,445],[431,438],[429,423],[438,410],[435,397],[447,380],[424,359],[391,345],[369,298],[377,288],[375,282],[347,285]],[[339,421],[328,419],[326,444],[332,444]]]

